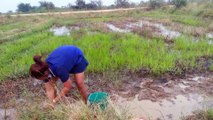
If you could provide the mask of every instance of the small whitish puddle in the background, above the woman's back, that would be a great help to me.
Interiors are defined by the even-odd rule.
[[[50,31],[53,32],[54,35],[56,36],[63,36],[63,35],[70,36],[70,30],[65,26],[54,27],[54,28],[51,28]]]

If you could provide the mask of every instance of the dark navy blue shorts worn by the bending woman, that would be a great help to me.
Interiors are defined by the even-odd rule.
[[[82,73],[86,70],[88,64],[89,64],[88,61],[84,57],[82,57],[82,60],[80,61],[80,63],[75,65],[70,71],[70,73],[71,74]]]

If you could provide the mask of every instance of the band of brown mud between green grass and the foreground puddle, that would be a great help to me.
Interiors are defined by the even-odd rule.
[[[96,77],[95,77],[96,76]],[[85,83],[89,92],[105,91],[119,94],[125,98],[134,97],[139,94],[139,100],[160,101],[162,99],[173,98],[179,94],[199,93],[213,96],[213,74],[186,74],[184,77],[143,77],[140,74],[120,74],[118,80],[101,81],[101,75],[90,75]],[[7,80],[0,85],[0,107],[11,106],[11,100],[20,100],[25,97],[45,98],[42,85],[33,85],[30,78]],[[31,95],[32,94],[32,95]],[[73,86],[72,94],[74,98],[79,98],[77,88]],[[111,96],[112,99],[116,99]]]

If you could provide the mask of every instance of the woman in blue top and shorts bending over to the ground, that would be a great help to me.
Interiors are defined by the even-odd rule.
[[[74,74],[77,88],[84,100],[87,102],[87,89],[84,85],[84,71],[88,65],[83,52],[76,46],[61,46],[55,49],[46,59],[41,60],[41,56],[34,56],[35,64],[30,67],[30,75],[45,83],[47,97],[53,103],[64,97],[71,89],[72,80],[69,74]],[[51,81],[61,79],[63,89],[60,95],[56,96],[56,90]]]

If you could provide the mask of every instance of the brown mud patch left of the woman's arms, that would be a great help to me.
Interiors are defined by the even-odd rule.
[[[44,98],[42,85],[33,85],[33,79],[10,79],[0,84],[0,108],[14,108],[26,104],[34,97]],[[35,99],[34,99],[35,100]]]

